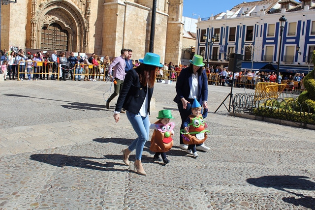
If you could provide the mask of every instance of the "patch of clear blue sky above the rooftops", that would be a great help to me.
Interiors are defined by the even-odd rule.
[[[255,0],[246,0],[247,2]],[[183,16],[197,19],[211,17],[233,6],[244,2],[244,0],[184,0]],[[192,15],[194,14],[194,15]]]

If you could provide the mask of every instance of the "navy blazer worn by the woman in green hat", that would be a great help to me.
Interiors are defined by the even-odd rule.
[[[190,71],[189,67],[184,68],[176,82],[176,96],[174,98],[174,101],[176,103],[181,102],[181,98],[185,98],[188,100],[189,93],[190,93],[190,87],[192,83],[191,78],[192,71]],[[198,102],[202,105],[202,101],[208,100],[208,79],[206,71],[203,70],[201,72],[201,75],[198,75],[198,95],[196,96]]]

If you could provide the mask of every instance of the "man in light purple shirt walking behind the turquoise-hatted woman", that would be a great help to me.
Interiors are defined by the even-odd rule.
[[[107,99],[106,101],[106,109],[109,109],[109,103],[120,93],[120,91],[123,88],[124,80],[125,80],[125,67],[126,62],[125,59],[128,57],[128,50],[122,49],[121,50],[121,56],[117,57],[108,67],[108,74],[111,79],[115,79],[117,82],[114,83],[114,92],[113,94]],[[112,69],[114,68],[114,77],[112,76]],[[125,111],[121,111],[122,113],[125,113]]]

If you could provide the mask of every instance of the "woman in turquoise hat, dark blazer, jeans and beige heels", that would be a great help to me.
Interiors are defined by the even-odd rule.
[[[123,89],[117,99],[114,111],[114,119],[119,121],[120,111],[125,108],[126,115],[134,131],[137,133],[136,138],[131,145],[122,150],[123,161],[129,165],[129,154],[136,150],[136,160],[134,170],[141,175],[147,175],[141,163],[141,156],[144,144],[149,138],[149,114],[150,101],[153,93],[156,69],[161,67],[160,57],[154,53],[146,53],[144,59],[140,59],[140,65],[137,68],[127,71]]]

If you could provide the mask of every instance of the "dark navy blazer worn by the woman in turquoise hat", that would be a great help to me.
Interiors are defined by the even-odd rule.
[[[153,88],[140,84],[139,75],[134,69],[126,73],[123,89],[119,93],[115,111],[120,112],[124,107],[128,112],[138,114],[148,92],[148,113],[150,114],[150,101]]]

